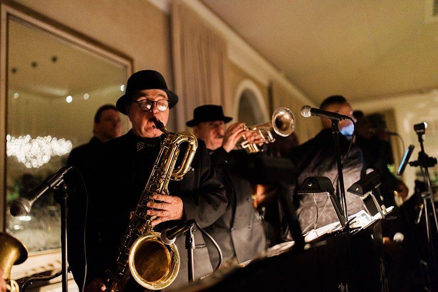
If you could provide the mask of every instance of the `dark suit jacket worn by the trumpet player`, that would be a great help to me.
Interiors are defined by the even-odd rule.
[[[211,154],[218,178],[226,188],[228,206],[206,231],[218,242],[224,260],[236,256],[238,262],[244,262],[266,248],[265,232],[253,206],[251,183],[240,171],[246,157],[243,150],[227,153],[222,147]],[[210,242],[207,247],[215,267],[219,261],[216,249]]]

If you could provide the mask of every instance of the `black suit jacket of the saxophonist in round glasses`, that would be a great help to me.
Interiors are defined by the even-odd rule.
[[[143,173],[142,177],[136,173],[140,163],[136,161],[136,139],[138,138],[132,131],[129,131],[126,135],[113,139],[102,147],[99,163],[94,171],[98,178],[97,183],[91,185],[91,196],[97,197],[98,203],[95,204],[95,209],[89,212],[91,222],[88,225],[96,233],[88,233],[87,237],[93,237],[97,244],[90,245],[87,250],[87,255],[93,261],[89,263],[88,280],[104,276],[105,270],[111,267],[128,226],[129,213],[134,210],[140,197],[140,193],[135,192],[133,186],[138,180],[146,184],[148,179],[151,165],[144,165],[149,167],[149,170]],[[184,153],[183,149],[181,153]],[[151,157],[151,161],[155,161],[155,158]],[[184,219],[195,219],[201,227],[207,227],[223,214],[227,199],[223,185],[215,178],[215,171],[202,141],[199,141],[191,166],[191,170],[182,181],[169,183],[169,191],[171,195],[182,199]],[[155,230],[161,231],[176,223],[166,221],[157,225]],[[196,231],[194,236],[195,243],[199,246],[194,251],[195,277],[199,278],[213,270],[201,233]],[[175,243],[179,250],[181,266],[176,280],[169,286],[171,288],[188,281],[184,237],[178,237]]]

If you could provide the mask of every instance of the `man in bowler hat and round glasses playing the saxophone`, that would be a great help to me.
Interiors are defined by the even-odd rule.
[[[89,246],[86,291],[103,291],[105,271],[110,269],[116,257],[130,214],[135,209],[140,194],[148,181],[154,161],[160,151],[163,132],[155,127],[154,121],[164,126],[169,118],[169,109],[178,102],[178,96],[167,89],[163,76],[152,70],[134,73],[129,77],[125,95],[117,101],[117,109],[127,114],[132,129],[124,136],[105,143],[100,163],[94,172],[97,179],[91,186],[90,196],[98,194],[96,210],[89,214],[88,225],[95,230],[96,244]],[[184,149],[180,153],[184,153]],[[176,165],[179,165],[178,162]],[[195,219],[201,227],[215,222],[225,211],[227,199],[223,185],[215,178],[210,157],[201,141],[191,163],[190,170],[181,181],[170,181],[169,194],[153,194],[153,202],[147,203],[147,215],[154,216],[151,225],[155,231],[173,227],[177,221]],[[199,231],[194,232],[195,278],[211,273],[207,248]],[[92,241],[92,240],[88,240]],[[181,258],[180,271],[169,287],[188,282],[187,252],[184,237],[178,237],[175,244]],[[80,273],[80,271],[73,271]],[[80,285],[80,283],[78,283]],[[124,291],[144,291],[140,286],[128,286]]]

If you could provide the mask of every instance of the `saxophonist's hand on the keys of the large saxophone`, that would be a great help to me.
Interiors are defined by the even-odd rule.
[[[147,210],[147,215],[156,216],[151,221],[152,226],[167,220],[183,219],[183,201],[180,197],[153,193],[153,199],[155,202],[150,201],[147,203],[149,208],[156,209]]]

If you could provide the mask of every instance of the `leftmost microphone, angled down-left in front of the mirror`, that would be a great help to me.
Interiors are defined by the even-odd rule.
[[[42,183],[40,183],[36,188],[31,190],[28,194],[28,198],[18,198],[11,203],[10,212],[14,217],[25,216],[31,211],[32,205],[41,197],[49,188],[53,189],[60,185],[64,181],[64,175],[73,166],[63,167],[58,170],[55,174],[47,177]]]

